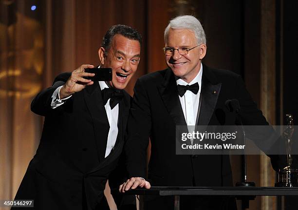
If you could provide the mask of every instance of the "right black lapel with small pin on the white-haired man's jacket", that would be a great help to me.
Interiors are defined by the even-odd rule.
[[[214,112],[215,105],[219,93],[221,91],[222,83],[219,83],[213,73],[203,65],[202,76],[202,104],[198,120],[198,125],[208,125],[211,116]]]

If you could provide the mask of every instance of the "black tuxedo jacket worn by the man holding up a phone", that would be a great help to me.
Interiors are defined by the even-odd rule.
[[[96,209],[108,175],[116,167],[126,135],[130,95],[119,103],[118,136],[105,158],[109,122],[98,83],[51,108],[55,89],[69,73],[60,74],[51,88],[41,91],[31,110],[45,116],[37,153],[31,160],[16,199],[34,199],[35,209]]]

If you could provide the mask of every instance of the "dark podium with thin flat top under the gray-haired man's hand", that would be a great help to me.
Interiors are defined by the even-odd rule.
[[[119,190],[112,189],[111,192],[117,194]],[[298,187],[151,187],[149,190],[143,188],[129,190],[125,194],[144,196],[173,195],[174,210],[179,210],[180,195],[233,196],[242,200],[242,207],[249,208],[249,200],[254,200],[256,196],[298,195]]]

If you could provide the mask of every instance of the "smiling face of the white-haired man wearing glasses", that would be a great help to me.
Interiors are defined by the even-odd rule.
[[[190,49],[201,43],[197,39],[193,31],[188,29],[169,29],[166,39],[166,47]],[[201,69],[201,60],[206,54],[206,45],[201,44],[192,49],[186,55],[181,55],[177,50],[171,55],[166,56],[166,63],[173,73],[186,81],[191,82]]]

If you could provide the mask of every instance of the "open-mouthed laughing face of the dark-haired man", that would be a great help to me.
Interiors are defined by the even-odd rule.
[[[139,41],[123,35],[114,35],[111,47],[106,52],[98,51],[101,68],[112,68],[112,81],[109,84],[117,89],[126,88],[131,77],[137,70],[140,61],[141,46]]]

